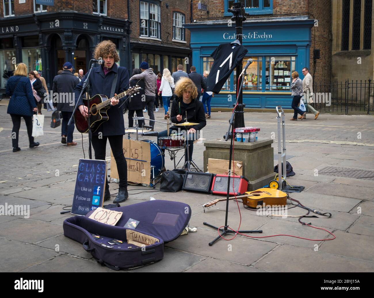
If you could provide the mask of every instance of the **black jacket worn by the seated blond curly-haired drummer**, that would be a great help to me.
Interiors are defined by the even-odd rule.
[[[173,100],[171,105],[170,119],[173,123],[183,123],[186,122],[186,109],[181,104],[181,112],[179,112],[179,103],[182,103],[183,99],[181,97]],[[177,121],[177,115],[182,116],[181,121]],[[187,121],[199,123],[189,128],[194,128],[195,130],[201,130],[206,125],[205,112],[203,108],[203,103],[199,100],[192,100],[192,103],[187,108]],[[172,129],[178,129],[182,127],[173,126]]]

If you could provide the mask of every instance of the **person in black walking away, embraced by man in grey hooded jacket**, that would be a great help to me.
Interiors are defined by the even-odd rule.
[[[141,73],[141,70],[138,68],[135,68],[132,70],[132,75],[139,75]],[[143,109],[145,106],[145,94],[144,94],[144,89],[145,89],[145,83],[143,79],[133,79],[130,80],[130,88],[138,85],[141,89],[138,89],[139,94],[135,93],[133,94],[133,97],[129,97],[128,103],[127,103],[127,108],[129,110],[129,127],[134,127],[134,113],[137,113],[137,117],[143,117]],[[139,127],[142,127],[144,124],[144,120],[138,120],[138,125]]]

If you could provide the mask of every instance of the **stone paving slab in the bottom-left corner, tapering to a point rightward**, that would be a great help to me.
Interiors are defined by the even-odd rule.
[[[18,272],[56,256],[57,252],[18,241],[0,239],[0,255],[6,255],[6,258],[1,258],[1,272]]]

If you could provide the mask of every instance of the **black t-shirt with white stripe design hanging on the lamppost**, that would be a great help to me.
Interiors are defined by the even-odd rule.
[[[243,45],[238,45],[237,43],[219,45],[211,55],[214,63],[206,82],[206,91],[218,94],[227,78],[237,64],[241,63],[247,52],[248,50]]]

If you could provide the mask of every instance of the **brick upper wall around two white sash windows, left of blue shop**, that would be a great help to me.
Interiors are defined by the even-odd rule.
[[[130,21],[131,24],[131,42],[146,42],[156,45],[171,45],[181,48],[190,48],[190,31],[185,30],[185,40],[187,43],[173,42],[173,12],[178,11],[184,14],[186,23],[190,22],[190,1],[189,0],[168,0],[169,7],[166,8],[166,2],[160,2],[161,24],[160,37],[162,41],[153,39],[140,39],[140,1],[132,0],[130,2]]]

